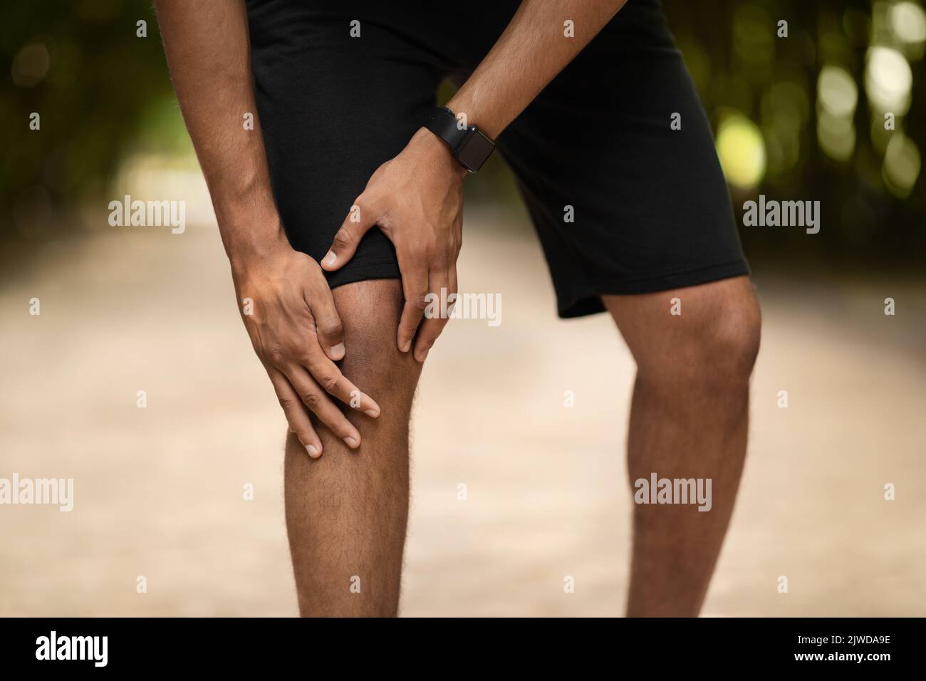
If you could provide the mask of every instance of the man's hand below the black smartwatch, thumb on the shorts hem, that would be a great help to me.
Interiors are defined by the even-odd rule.
[[[447,323],[440,312],[421,322],[432,299],[426,296],[437,296],[438,310],[442,288],[448,303],[457,297],[465,176],[466,170],[444,141],[421,128],[397,157],[369,178],[334,234],[331,250],[321,259],[326,271],[341,268],[354,256],[363,235],[379,226],[395,246],[405,292],[396,343],[401,352],[407,352],[414,340],[418,361],[428,356]]]

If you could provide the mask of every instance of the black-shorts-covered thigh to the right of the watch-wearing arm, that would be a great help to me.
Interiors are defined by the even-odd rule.
[[[499,147],[562,316],[747,271],[707,116],[653,0],[624,6]]]

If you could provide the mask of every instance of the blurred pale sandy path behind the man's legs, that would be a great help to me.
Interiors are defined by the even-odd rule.
[[[470,219],[461,265],[466,290],[502,294],[502,324],[453,322],[419,391],[403,612],[618,614],[632,362],[606,317],[557,322],[539,247],[509,222]],[[76,493],[69,513],[0,506],[0,614],[294,615],[282,415],[214,227],[49,246],[16,281],[0,477]],[[926,614],[923,297],[758,283],[751,454],[707,614]]]

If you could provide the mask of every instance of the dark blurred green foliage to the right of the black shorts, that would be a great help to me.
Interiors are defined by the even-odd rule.
[[[872,112],[878,107],[869,101],[865,85],[870,45],[896,44],[887,24],[898,3],[662,0],[662,4],[714,129],[737,111],[762,133],[767,169],[755,188],[732,187],[737,215],[743,202],[758,194],[821,202],[823,226],[813,236],[801,230],[741,227],[750,259],[821,264],[861,260],[885,267],[922,262],[926,252],[923,170],[906,198],[895,195],[883,177],[883,147],[890,135],[903,132],[919,147],[920,155],[926,155],[921,45],[919,50],[915,45],[903,47],[909,48],[912,87],[909,110],[897,117],[896,131],[883,130],[882,111]],[[919,10],[920,3],[915,5]],[[788,22],[786,38],[777,35],[781,20]],[[838,154],[821,146],[821,136],[827,132],[821,121],[827,119],[818,100],[818,77],[824,66],[845,69],[857,90],[857,106],[845,121],[845,132],[829,144],[847,142],[847,158],[833,158]],[[855,134],[854,144],[846,139],[849,131]]]

